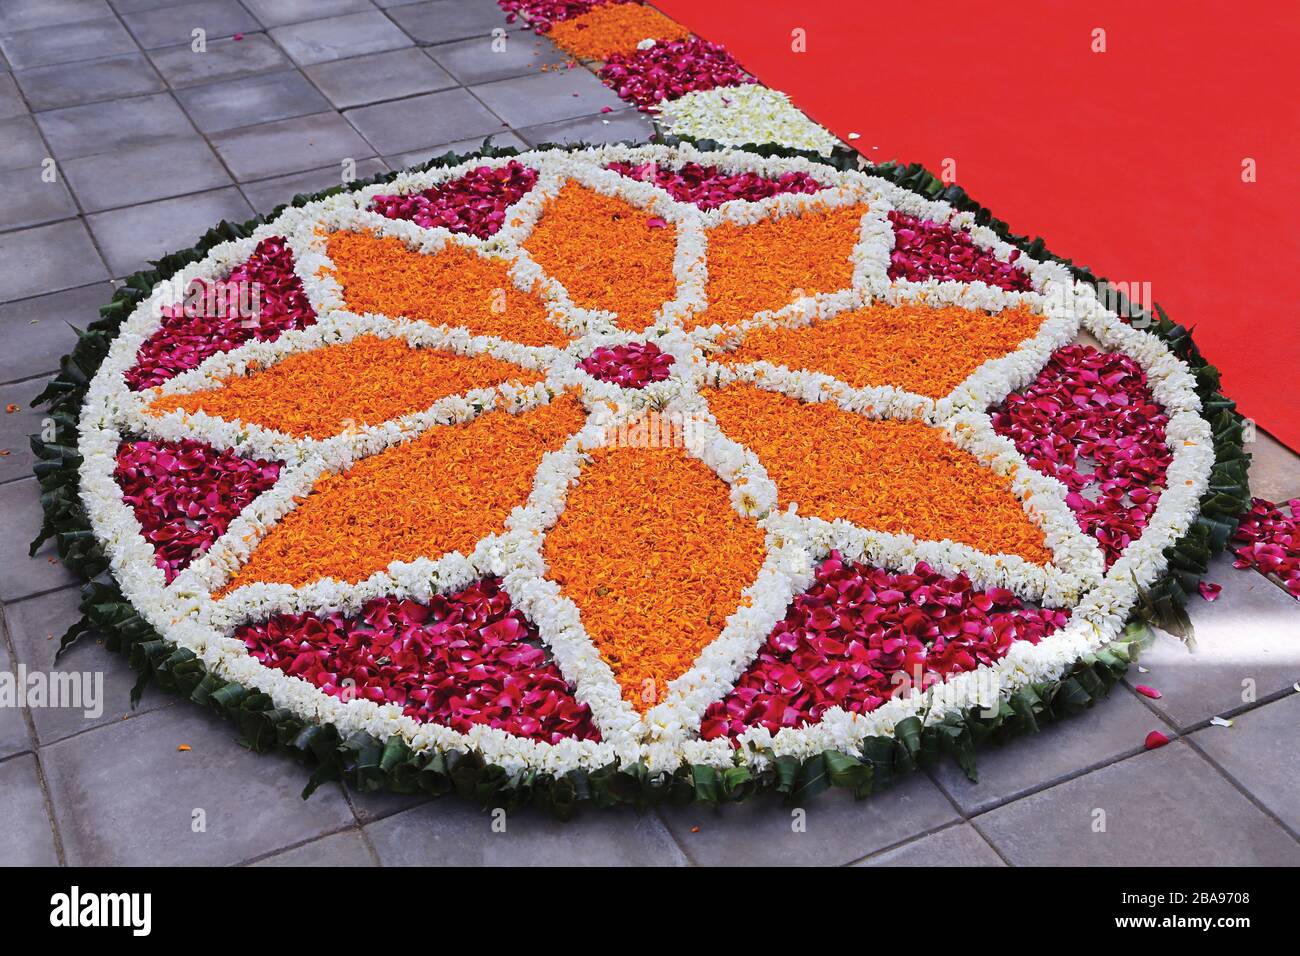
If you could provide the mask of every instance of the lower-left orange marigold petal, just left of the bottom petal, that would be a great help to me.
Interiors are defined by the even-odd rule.
[[[562,395],[520,415],[491,411],[326,475],[257,545],[222,593],[254,581],[355,583],[394,561],[468,553],[506,527],[546,451],[576,433],[581,405]]]

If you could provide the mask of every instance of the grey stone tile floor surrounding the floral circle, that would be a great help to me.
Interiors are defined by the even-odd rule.
[[[861,804],[517,813],[498,832],[455,800],[326,786],[303,801],[302,767],[244,750],[205,710],[157,689],[130,709],[133,672],[94,637],[55,665],[78,592],[49,545],[27,558],[40,505],[25,436],[66,324],[147,259],[334,185],[348,160],[367,177],[486,135],[651,134],[545,38],[510,27],[491,52],[504,26],[493,0],[0,4],[0,406],[16,407],[0,416],[0,669],[103,675],[94,714],[0,708],[0,865],[1300,861],[1300,605],[1226,559],[1221,600],[1192,609],[1195,649],[1161,636],[1096,710],[985,750],[978,786],[942,766]],[[1252,450],[1260,493],[1300,494],[1300,458],[1262,432]],[[1173,743],[1144,752],[1152,730]]]

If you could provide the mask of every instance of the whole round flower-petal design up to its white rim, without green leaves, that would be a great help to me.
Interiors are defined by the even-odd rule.
[[[304,722],[506,773],[762,769],[1112,641],[1208,486],[1193,386],[884,179],[540,151],[161,284],[90,386],[81,496],[147,622]]]

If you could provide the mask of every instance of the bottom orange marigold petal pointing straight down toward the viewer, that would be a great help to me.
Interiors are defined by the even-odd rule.
[[[740,606],[763,535],[681,449],[597,449],[592,459],[543,555],[624,697],[645,710]]]

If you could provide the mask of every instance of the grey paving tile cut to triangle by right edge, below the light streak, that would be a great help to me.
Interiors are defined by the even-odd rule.
[[[1300,693],[1191,736],[1227,774],[1300,834]]]

